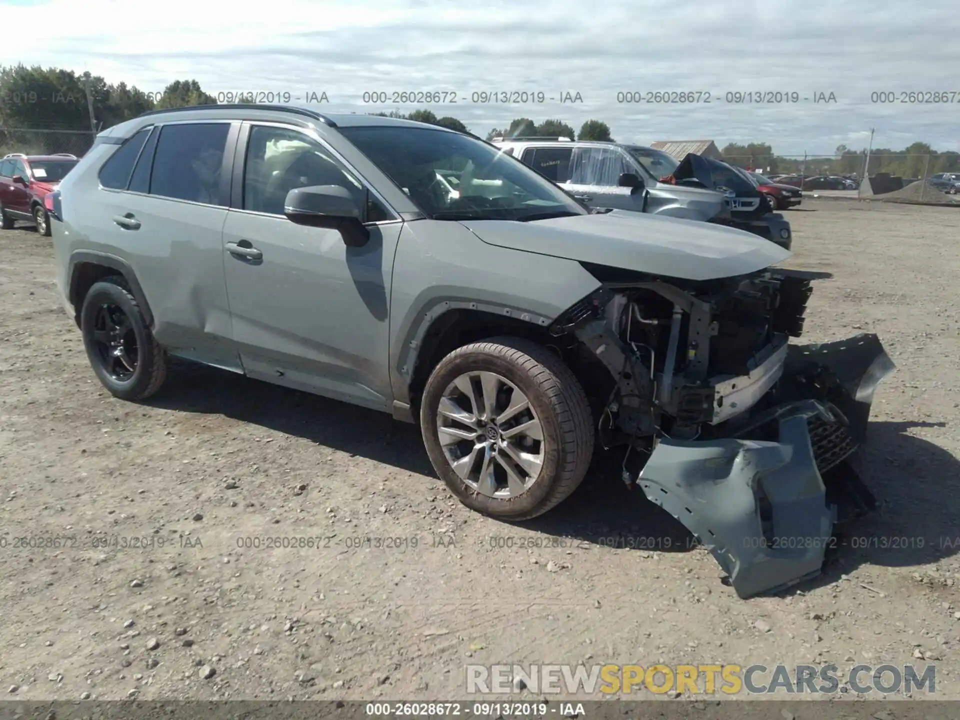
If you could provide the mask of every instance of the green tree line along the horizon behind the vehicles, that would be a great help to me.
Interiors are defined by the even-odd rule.
[[[23,64],[0,66],[0,151],[61,152],[62,135],[38,136],[36,131],[90,131],[93,127],[109,128],[154,109],[185,108],[192,105],[216,105],[217,99],[204,92],[196,80],[180,80],[168,84],[160,93],[148,93],[135,85],[110,84],[99,75],[77,74],[59,67],[43,68]],[[373,115],[406,118],[458,132],[470,132],[466,124],[449,115],[437,117],[430,109],[409,113],[398,110],[373,112]],[[34,132],[17,132],[26,130]],[[502,128],[493,128],[485,139],[496,137],[568,137],[577,140],[612,142],[610,126],[602,120],[585,122],[579,132],[563,120],[546,119],[540,123],[518,117]],[[84,138],[86,147],[89,141]],[[81,150],[81,153],[85,148]],[[832,156],[806,158],[778,156],[768,143],[728,143],[721,150],[724,159],[740,167],[753,167],[769,174],[801,173],[811,175],[861,175],[866,148],[852,150],[846,145],[836,148]],[[960,154],[938,153],[929,144],[915,142],[896,151],[875,148],[870,156],[868,174],[887,172],[905,178],[934,173],[960,172]]]

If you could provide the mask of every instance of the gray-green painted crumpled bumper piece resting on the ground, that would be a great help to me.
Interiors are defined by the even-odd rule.
[[[834,514],[813,460],[809,414],[781,418],[779,443],[662,441],[640,473],[647,497],[708,548],[740,597],[820,573]],[[764,495],[773,537],[763,532]]]

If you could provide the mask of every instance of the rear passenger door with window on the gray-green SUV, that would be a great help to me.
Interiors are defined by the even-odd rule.
[[[232,344],[222,235],[239,123],[137,132],[100,170],[109,252],[133,268],[171,354],[242,372]]]

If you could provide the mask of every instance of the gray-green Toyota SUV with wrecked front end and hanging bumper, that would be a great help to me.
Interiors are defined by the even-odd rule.
[[[506,520],[564,500],[599,444],[741,596],[816,575],[845,498],[870,504],[851,461],[891,363],[876,335],[788,344],[809,279],[755,234],[591,210],[469,134],[291,107],[147,113],[51,200],[114,396],[177,356],[392,413]]]

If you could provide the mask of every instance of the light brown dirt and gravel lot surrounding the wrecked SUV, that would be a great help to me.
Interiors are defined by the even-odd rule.
[[[789,264],[831,274],[806,338],[876,331],[898,370],[866,448],[881,511],[819,580],[749,601],[619,454],[515,527],[451,501],[386,415],[188,366],[149,404],[113,399],[49,239],[0,232],[0,692],[449,700],[466,663],[832,661],[935,663],[960,698],[960,213],[787,217]]]

